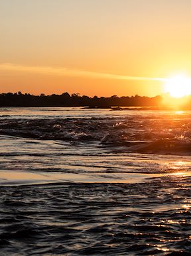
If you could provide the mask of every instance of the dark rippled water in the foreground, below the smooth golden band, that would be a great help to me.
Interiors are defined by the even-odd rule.
[[[1,255],[191,255],[190,181],[1,187]]]

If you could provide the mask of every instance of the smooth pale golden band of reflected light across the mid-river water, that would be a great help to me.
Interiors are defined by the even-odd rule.
[[[0,185],[44,184],[58,182],[85,183],[142,183],[148,178],[159,178],[162,174],[75,174],[60,172],[19,172],[18,170],[0,171]]]

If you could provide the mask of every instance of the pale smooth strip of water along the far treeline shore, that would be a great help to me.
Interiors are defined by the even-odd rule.
[[[130,107],[135,108],[135,107]],[[18,111],[19,109],[19,111]],[[124,117],[131,115],[188,115],[190,111],[110,111],[110,109],[83,109],[83,107],[1,107],[0,118],[81,118],[81,117]]]

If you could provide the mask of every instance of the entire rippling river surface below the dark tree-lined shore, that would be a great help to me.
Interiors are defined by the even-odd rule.
[[[191,255],[189,111],[0,111],[2,255]]]

